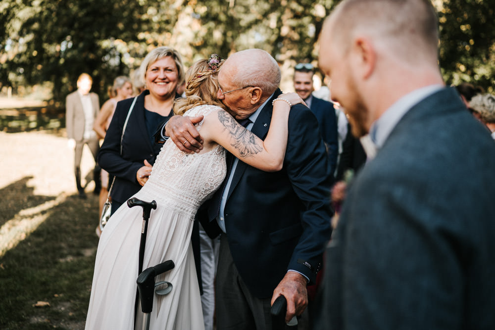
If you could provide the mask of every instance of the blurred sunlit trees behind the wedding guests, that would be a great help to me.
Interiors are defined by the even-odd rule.
[[[258,47],[279,61],[285,81],[299,61],[317,64],[317,39],[338,0],[0,0],[0,89],[49,83],[55,101],[88,72],[104,101],[114,77],[146,53],[172,46],[186,66],[216,52]],[[493,91],[495,0],[434,0],[447,83]],[[253,63],[255,65],[255,63]],[[290,86],[290,83],[288,83]]]

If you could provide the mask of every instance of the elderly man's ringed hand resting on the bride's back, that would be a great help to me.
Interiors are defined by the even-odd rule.
[[[173,116],[165,125],[165,134],[184,152],[199,152],[203,148],[203,139],[194,127],[203,120],[203,116]]]

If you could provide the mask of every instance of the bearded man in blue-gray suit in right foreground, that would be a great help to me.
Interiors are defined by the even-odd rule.
[[[326,250],[317,329],[495,329],[495,143],[446,88],[428,0],[344,0],[319,65],[377,149]]]

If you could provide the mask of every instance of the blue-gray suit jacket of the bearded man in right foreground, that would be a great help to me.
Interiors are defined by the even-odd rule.
[[[495,143],[444,88],[355,177],[316,329],[495,329]]]

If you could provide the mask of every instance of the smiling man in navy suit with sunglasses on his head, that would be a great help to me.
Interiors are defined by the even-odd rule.
[[[294,89],[318,121],[321,137],[327,147],[330,169],[332,173],[335,173],[339,154],[337,118],[332,103],[312,94],[314,91],[313,70],[311,63],[298,63],[294,67]]]

